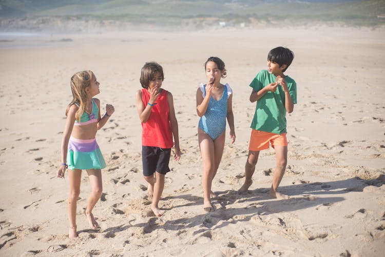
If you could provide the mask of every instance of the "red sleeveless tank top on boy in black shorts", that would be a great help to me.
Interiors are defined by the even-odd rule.
[[[150,100],[150,93],[147,89],[142,89],[142,101],[147,106]],[[142,145],[157,146],[160,148],[172,148],[172,130],[168,113],[170,111],[167,102],[167,90],[162,89],[156,101],[152,106],[150,117],[146,123],[142,123]]]

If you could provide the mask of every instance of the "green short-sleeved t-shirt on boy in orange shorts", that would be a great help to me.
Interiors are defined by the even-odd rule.
[[[268,84],[275,82],[275,79],[276,76],[267,70],[261,70],[250,86],[258,92]],[[297,104],[296,82],[289,76],[285,76],[284,80],[293,103]],[[251,128],[276,134],[286,133],[285,93],[280,85],[275,92],[268,91],[257,101]]]

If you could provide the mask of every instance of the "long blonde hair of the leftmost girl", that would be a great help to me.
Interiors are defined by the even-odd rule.
[[[71,90],[73,99],[67,107],[66,116],[68,114],[69,108],[73,104],[77,103],[79,105],[79,109],[75,113],[75,119],[76,121],[80,121],[80,118],[86,109],[86,105],[89,102],[86,88],[91,86],[91,80],[94,77],[95,75],[90,70],[79,71],[73,74],[71,77]]]

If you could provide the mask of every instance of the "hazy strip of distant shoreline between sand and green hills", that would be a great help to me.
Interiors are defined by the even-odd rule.
[[[175,29],[185,31],[200,31],[211,29],[244,29],[244,28],[265,28],[265,27],[368,27],[376,29],[383,27],[383,23],[376,25],[347,24],[344,22],[321,22],[321,21],[296,21],[272,19],[249,19],[248,22],[227,20],[218,17],[199,18],[170,18],[163,22],[141,21],[134,22],[129,19],[100,19],[95,17],[76,16],[40,16],[40,17],[0,17],[0,32],[2,33],[94,33],[102,31],[172,31]]]

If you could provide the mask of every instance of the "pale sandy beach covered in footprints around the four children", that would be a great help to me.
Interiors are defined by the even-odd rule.
[[[1,256],[380,256],[385,251],[385,27],[301,26],[202,31],[99,32],[2,36],[0,42]],[[246,194],[244,164],[255,103],[248,86],[267,53],[295,53],[285,72],[297,82],[287,115],[288,163],[268,196],[273,149],[261,152]],[[202,209],[196,90],[204,62],[219,56],[234,91],[236,142],[228,127],[213,182],[215,211]],[[142,175],[141,124],[134,93],[145,62],[163,66],[174,95],[181,160],[170,161],[153,216]],[[68,239],[68,177],[58,179],[70,77],[92,70],[115,112],[97,134],[107,168],[103,195],[83,214],[90,191],[83,171],[79,238]],[[381,253],[382,252],[382,253]]]

